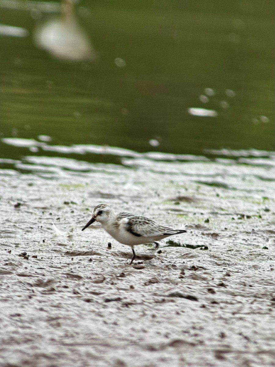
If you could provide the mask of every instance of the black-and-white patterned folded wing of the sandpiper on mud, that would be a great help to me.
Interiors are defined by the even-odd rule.
[[[137,237],[169,236],[186,232],[185,230],[161,226],[152,219],[140,217],[138,215],[120,213],[120,217],[124,219],[125,229]]]

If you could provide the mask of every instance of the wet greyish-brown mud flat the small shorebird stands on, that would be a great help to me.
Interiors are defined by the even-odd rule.
[[[0,171],[1,367],[275,365],[274,161],[39,159]],[[129,266],[99,203],[188,232]]]

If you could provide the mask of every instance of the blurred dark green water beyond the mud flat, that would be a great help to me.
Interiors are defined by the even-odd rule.
[[[30,33],[0,36],[2,138],[195,155],[274,149],[273,0],[81,1],[75,18],[98,55],[91,62],[36,47],[37,23],[59,14],[0,10],[1,23]],[[0,142],[0,158],[22,154]]]

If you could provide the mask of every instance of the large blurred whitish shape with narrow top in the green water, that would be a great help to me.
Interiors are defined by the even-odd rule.
[[[38,47],[58,59],[95,60],[96,51],[73,14],[73,1],[62,1],[62,15],[38,26],[34,32]]]

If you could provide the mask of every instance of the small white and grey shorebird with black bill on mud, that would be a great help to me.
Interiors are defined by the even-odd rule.
[[[133,257],[136,257],[134,247],[143,243],[154,243],[168,236],[187,232],[185,229],[173,229],[162,226],[152,219],[127,212],[115,212],[107,204],[99,204],[92,212],[92,218],[81,229],[86,229],[94,222],[102,224],[103,228],[118,242],[132,248]]]

